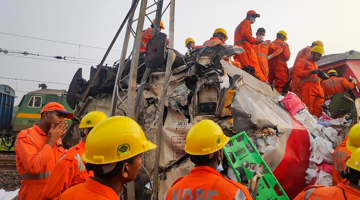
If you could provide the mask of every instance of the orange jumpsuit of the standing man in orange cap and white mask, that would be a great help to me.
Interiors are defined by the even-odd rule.
[[[245,50],[244,53],[234,55],[234,60],[240,63],[240,68],[251,66],[255,68],[255,74],[260,77],[262,82],[266,82],[264,74],[262,74],[257,56],[254,51],[256,39],[252,37],[251,23],[244,19],[235,29],[234,45],[241,46]]]

